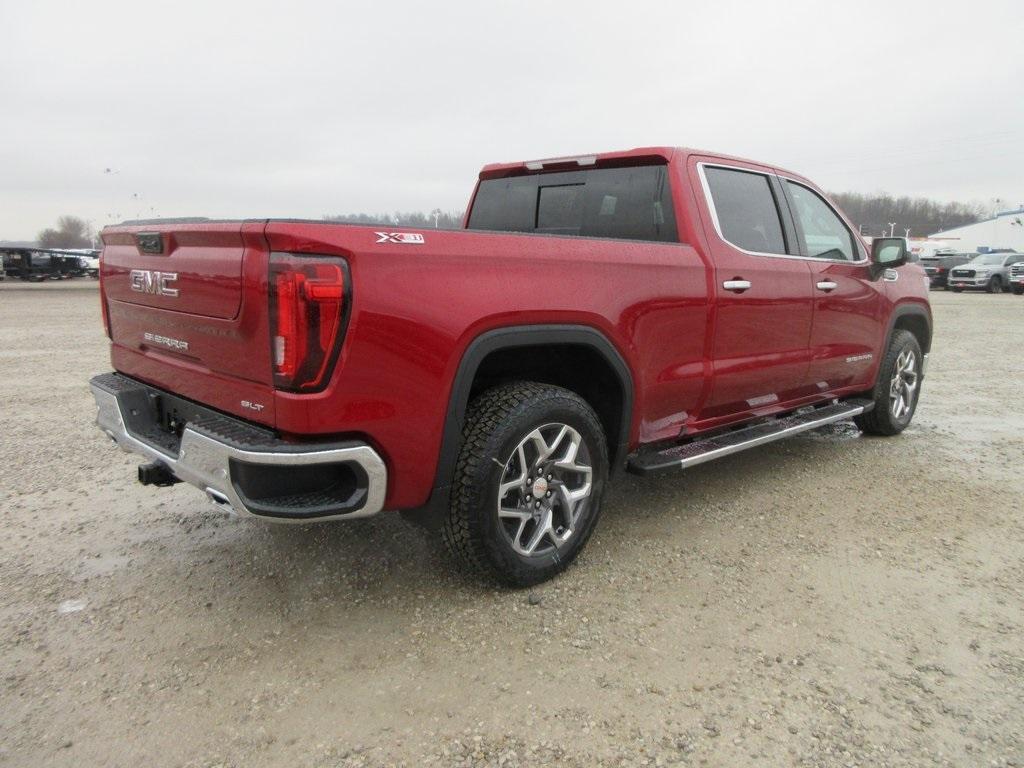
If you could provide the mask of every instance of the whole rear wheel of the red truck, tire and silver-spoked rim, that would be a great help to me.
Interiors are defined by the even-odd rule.
[[[561,387],[516,382],[470,404],[442,536],[471,569],[524,587],[590,538],[608,477],[601,422]]]

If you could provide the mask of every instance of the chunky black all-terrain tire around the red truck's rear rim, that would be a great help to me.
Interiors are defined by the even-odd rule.
[[[547,550],[538,547],[535,554],[527,556],[517,551],[516,546],[523,548],[522,541],[528,538],[530,529],[515,531],[522,535],[521,539],[509,531],[510,525],[514,528],[518,523],[499,514],[500,507],[511,505],[511,502],[503,503],[508,497],[501,496],[500,487],[503,479],[506,485],[509,484],[512,467],[518,468],[522,463],[525,472],[526,464],[531,463],[525,454],[519,454],[519,446],[536,433],[535,430],[543,428],[551,435],[562,426],[570,428],[566,434],[575,435],[571,439],[580,447],[573,457],[587,457],[591,470],[590,494],[585,504],[581,502],[574,507],[580,510],[574,524],[559,530],[560,535],[570,530],[569,537],[560,546],[552,539]],[[550,436],[545,439],[556,440]],[[557,441],[554,449],[554,454],[562,451]],[[577,462],[578,458],[572,461]],[[515,587],[538,584],[568,566],[590,539],[601,511],[607,477],[608,449],[604,431],[597,415],[582,397],[561,387],[534,382],[495,387],[473,399],[467,411],[451,504],[441,525],[442,539],[452,555],[474,572]],[[557,482],[556,479],[552,487]],[[527,487],[525,482],[523,487]],[[536,480],[529,487],[539,487]],[[548,503],[545,496],[551,496],[544,494],[546,487],[545,484],[539,496],[542,503]],[[534,490],[508,493],[519,500],[516,509],[522,505],[529,509],[535,504],[530,496],[536,493]],[[554,509],[561,502],[553,500],[550,504]],[[573,507],[572,504],[567,506]],[[539,526],[540,522],[524,523],[530,524]]]

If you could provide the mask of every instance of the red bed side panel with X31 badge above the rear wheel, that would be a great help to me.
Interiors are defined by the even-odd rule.
[[[369,227],[271,221],[271,251],[348,259],[352,308],[331,385],[276,392],[278,428],[356,434],[381,450],[387,506],[426,502],[462,355],[505,327],[601,332],[634,379],[630,443],[678,434],[705,374],[706,268],[688,245],[503,232],[423,232],[378,243]]]

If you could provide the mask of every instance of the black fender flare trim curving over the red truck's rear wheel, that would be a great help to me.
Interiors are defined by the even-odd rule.
[[[630,427],[633,423],[633,374],[608,338],[590,326],[535,325],[498,328],[485,331],[473,339],[459,361],[444,416],[441,446],[437,457],[437,469],[434,472],[434,485],[426,504],[428,509],[439,510],[447,504],[452,473],[455,471],[456,459],[462,442],[462,427],[466,418],[466,409],[469,406],[469,393],[480,364],[488,354],[500,349],[544,344],[572,344],[589,347],[600,354],[614,371],[623,390],[623,408],[618,442],[614,451],[611,452],[612,456],[609,457],[612,469],[626,460]]]

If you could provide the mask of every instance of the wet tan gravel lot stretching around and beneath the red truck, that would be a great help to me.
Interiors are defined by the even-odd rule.
[[[0,284],[0,764],[1024,765],[1024,299],[933,301],[902,436],[626,477],[516,592],[135,484],[95,284]]]

